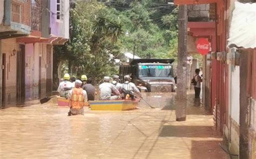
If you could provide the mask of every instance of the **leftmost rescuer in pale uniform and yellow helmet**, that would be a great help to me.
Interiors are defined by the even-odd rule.
[[[69,74],[65,74],[63,79],[64,81],[59,83],[57,91],[59,92],[60,97],[67,98],[69,90],[73,88],[73,84],[70,82]]]

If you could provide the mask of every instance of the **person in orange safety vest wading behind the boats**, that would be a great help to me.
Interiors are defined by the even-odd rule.
[[[69,91],[70,100],[70,111],[68,113],[69,116],[71,115],[83,115],[84,114],[84,102],[87,102],[87,93],[85,90],[81,88],[82,81],[76,80],[75,88]]]

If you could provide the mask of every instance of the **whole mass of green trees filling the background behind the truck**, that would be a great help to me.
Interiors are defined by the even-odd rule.
[[[53,74],[63,63],[70,74],[99,81],[118,73],[110,54],[122,60],[125,51],[133,50],[140,57],[177,59],[177,13],[163,3],[76,2],[70,10],[70,40],[54,50]]]

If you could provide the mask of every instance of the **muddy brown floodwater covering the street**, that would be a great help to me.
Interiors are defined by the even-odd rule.
[[[226,158],[212,115],[188,96],[187,121],[176,122],[174,93],[144,93],[132,111],[91,111],[68,117],[68,107],[0,110],[0,158]]]

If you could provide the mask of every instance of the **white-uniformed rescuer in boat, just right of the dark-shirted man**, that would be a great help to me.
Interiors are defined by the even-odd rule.
[[[104,83],[99,85],[100,100],[121,99],[120,92],[110,83],[110,77],[104,77]],[[113,95],[112,95],[113,93]]]

